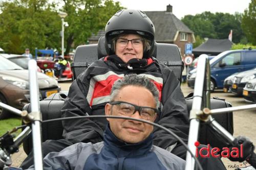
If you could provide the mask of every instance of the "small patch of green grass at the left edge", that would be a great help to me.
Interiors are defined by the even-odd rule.
[[[0,136],[20,125],[22,125],[22,120],[19,117],[11,117],[8,119],[0,120]],[[13,134],[17,136],[20,132],[22,132],[21,129],[19,129],[17,132],[14,132]]]

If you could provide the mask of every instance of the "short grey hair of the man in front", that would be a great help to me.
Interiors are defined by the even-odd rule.
[[[159,91],[157,87],[150,79],[136,74],[125,75],[122,79],[115,81],[110,94],[110,102],[114,101],[119,94],[120,89],[125,86],[139,86],[150,90],[154,96],[156,108],[158,108]]]

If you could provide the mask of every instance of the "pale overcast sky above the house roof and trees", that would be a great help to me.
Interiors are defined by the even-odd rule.
[[[168,4],[173,6],[173,13],[181,19],[185,15],[196,15],[204,11],[211,13],[223,12],[243,13],[249,7],[251,0],[114,0],[119,1],[127,9],[141,11],[166,11]]]

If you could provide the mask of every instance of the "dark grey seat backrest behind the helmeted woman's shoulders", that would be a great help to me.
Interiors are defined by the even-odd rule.
[[[80,45],[76,48],[74,60],[71,65],[73,80],[86,70],[92,62],[108,55],[105,50],[104,41],[105,37],[100,37],[98,44]],[[172,69],[179,81],[181,80],[184,64],[177,45],[156,43],[153,57]]]

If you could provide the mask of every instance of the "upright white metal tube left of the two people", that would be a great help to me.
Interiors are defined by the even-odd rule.
[[[39,105],[39,90],[37,81],[37,66],[35,60],[29,61],[29,89],[30,89],[30,103],[31,112],[40,114]],[[41,117],[36,115],[35,117]],[[32,138],[33,138],[33,152],[34,152],[34,166],[36,170],[42,170],[42,144],[41,144],[41,118],[35,119],[32,123]]]

